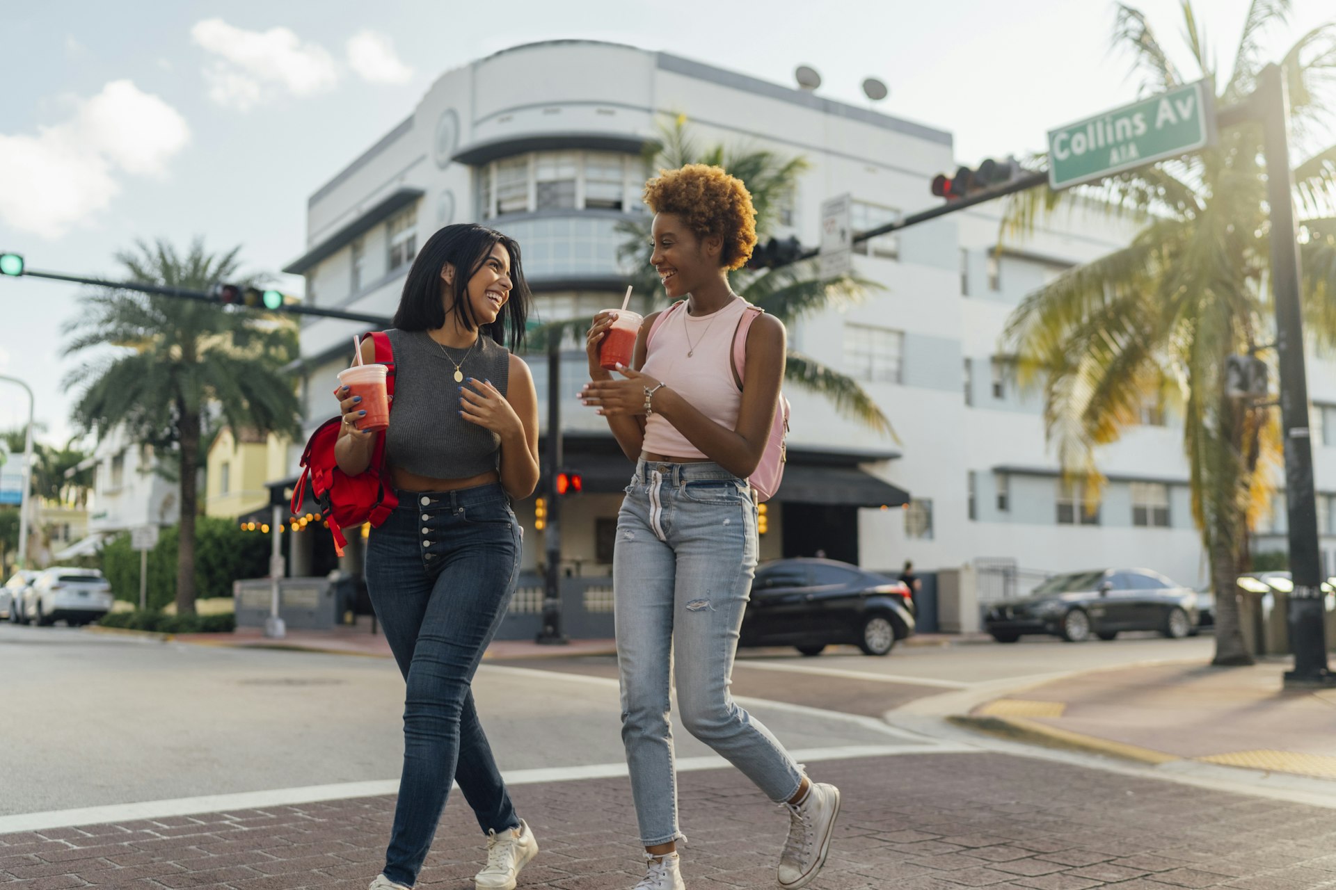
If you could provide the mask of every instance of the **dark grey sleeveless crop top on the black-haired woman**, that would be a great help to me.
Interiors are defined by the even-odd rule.
[[[468,479],[496,470],[501,438],[460,416],[454,364],[426,331],[386,331],[394,350],[394,404],[385,454],[401,470],[433,479]],[[450,350],[458,362],[464,350]],[[510,379],[510,351],[488,334],[460,364],[465,378],[490,380],[501,395]]]

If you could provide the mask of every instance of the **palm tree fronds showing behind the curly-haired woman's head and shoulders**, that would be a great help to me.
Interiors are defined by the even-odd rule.
[[[774,232],[783,200],[794,193],[798,177],[808,168],[807,160],[802,156],[782,157],[775,152],[745,145],[719,144],[697,149],[683,115],[679,115],[671,127],[660,129],[660,144],[645,155],[645,160],[652,169],[711,164],[743,180],[756,208],[756,235],[762,242]],[[659,276],[649,266],[653,240],[649,232],[651,223],[648,216],[643,216],[619,224],[619,230],[627,236],[619,250],[619,259],[632,270],[631,284],[640,294],[655,294],[660,288]],[[733,290],[786,324],[828,306],[860,299],[874,288],[880,286],[856,276],[823,280],[818,274],[816,260],[774,270],[743,268],[733,272]],[[548,336],[582,334],[591,323],[592,319],[552,323],[537,328],[530,343],[536,348],[542,348]],[[788,350],[784,376],[794,386],[826,396],[844,416],[864,423],[880,434],[895,436],[890,420],[854,378],[792,348]]]

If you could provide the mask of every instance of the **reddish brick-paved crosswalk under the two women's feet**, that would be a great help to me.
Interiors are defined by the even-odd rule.
[[[1121,890],[1336,886],[1329,810],[1002,754],[814,763],[844,790],[820,890]],[[774,887],[787,821],[733,770],[680,778],[691,890]],[[542,853],[521,887],[629,889],[639,878],[625,779],[517,786]],[[393,798],[0,835],[0,883],[53,887],[362,890]],[[473,887],[477,823],[457,795],[420,886]]]

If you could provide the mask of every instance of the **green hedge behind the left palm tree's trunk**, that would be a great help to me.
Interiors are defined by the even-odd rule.
[[[148,551],[148,608],[160,610],[176,600],[176,543],[180,528],[163,528],[158,546]],[[195,520],[195,595],[231,596],[238,578],[269,574],[269,535],[242,531],[231,519],[199,516]],[[130,547],[130,532],[108,540],[99,559],[102,574],[116,599],[139,602],[139,551]]]

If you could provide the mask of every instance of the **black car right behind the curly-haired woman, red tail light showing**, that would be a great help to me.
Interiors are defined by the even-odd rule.
[[[795,646],[818,655],[852,643],[887,655],[914,632],[910,588],[834,559],[780,559],[756,570],[740,646]]]

